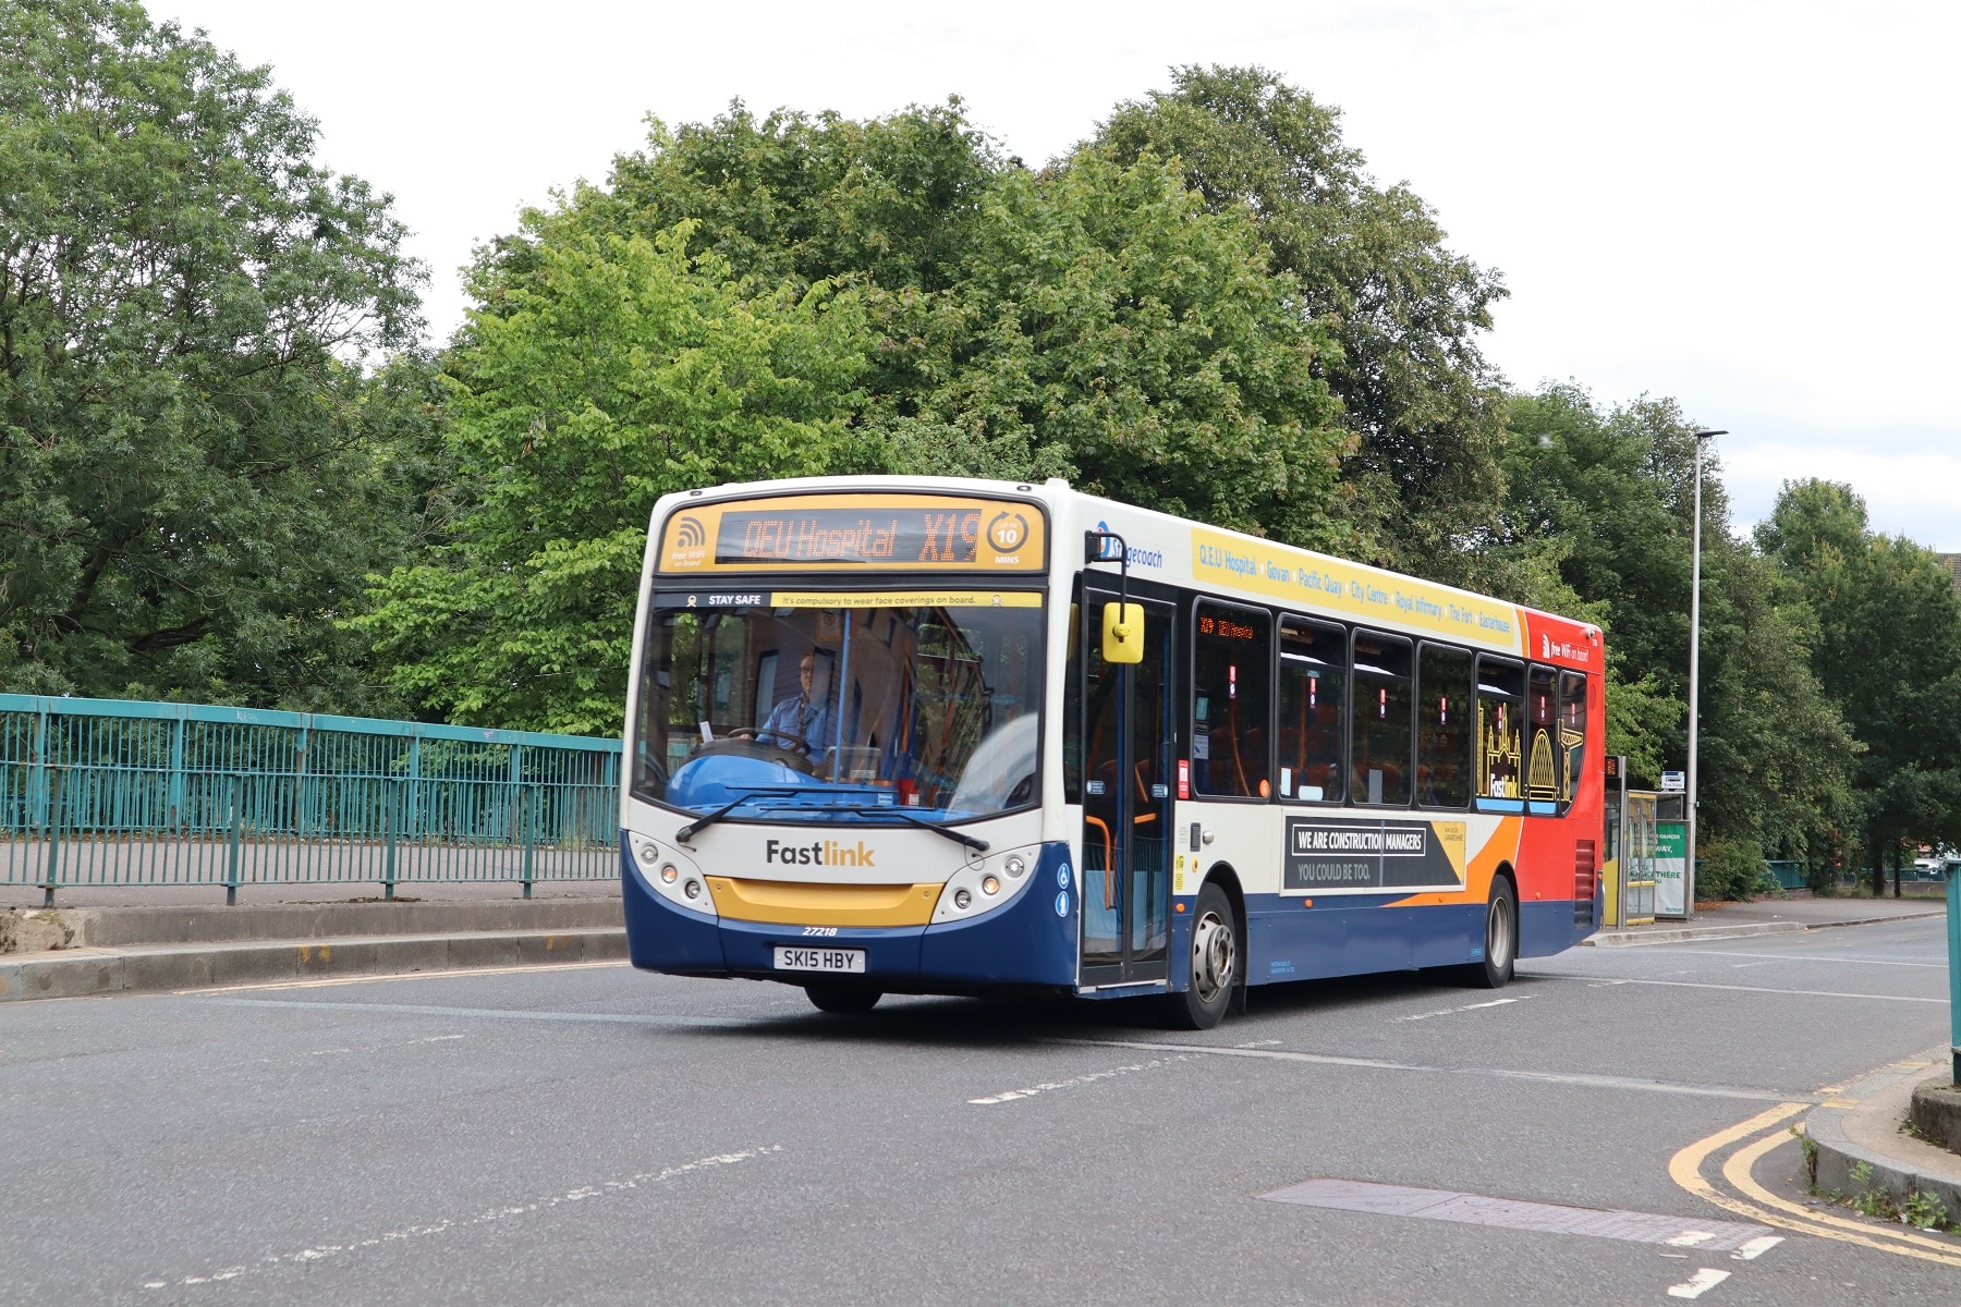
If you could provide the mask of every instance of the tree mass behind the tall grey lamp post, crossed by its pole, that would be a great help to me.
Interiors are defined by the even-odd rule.
[[[1559,580],[1600,605],[1606,629],[1608,749],[1639,758],[1635,776],[1653,782],[1686,758],[1694,425],[1669,400],[1602,411],[1577,386],[1547,386],[1512,400],[1500,462],[1506,531],[1481,566],[1516,568],[1557,541]],[[1714,460],[1704,478],[1704,888],[1747,894],[1767,852],[1800,856],[1847,821],[1857,745],[1812,672],[1818,623],[1804,594],[1730,533]],[[1737,868],[1737,884],[1722,868]]]

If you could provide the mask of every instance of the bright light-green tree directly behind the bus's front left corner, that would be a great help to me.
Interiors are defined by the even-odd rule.
[[[831,286],[743,296],[690,225],[616,235],[565,206],[478,261],[447,368],[465,508],[349,625],[451,721],[610,733],[653,502],[877,464],[849,425],[869,337]]]

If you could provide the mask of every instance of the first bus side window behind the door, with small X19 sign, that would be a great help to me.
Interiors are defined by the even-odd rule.
[[[1192,615],[1192,786],[1265,799],[1273,613],[1200,600]]]

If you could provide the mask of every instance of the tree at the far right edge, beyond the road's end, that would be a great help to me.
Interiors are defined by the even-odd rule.
[[[1857,760],[1873,888],[1900,843],[1961,843],[1961,600],[1912,541],[1867,527],[1851,486],[1786,482],[1757,543],[1818,613],[1814,666],[1865,747]]]

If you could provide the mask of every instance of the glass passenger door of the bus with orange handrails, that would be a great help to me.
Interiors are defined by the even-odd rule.
[[[1143,602],[1143,662],[1102,660],[1114,590],[1082,588],[1082,984],[1169,976],[1171,619]],[[1131,600],[1139,604],[1139,600]]]

